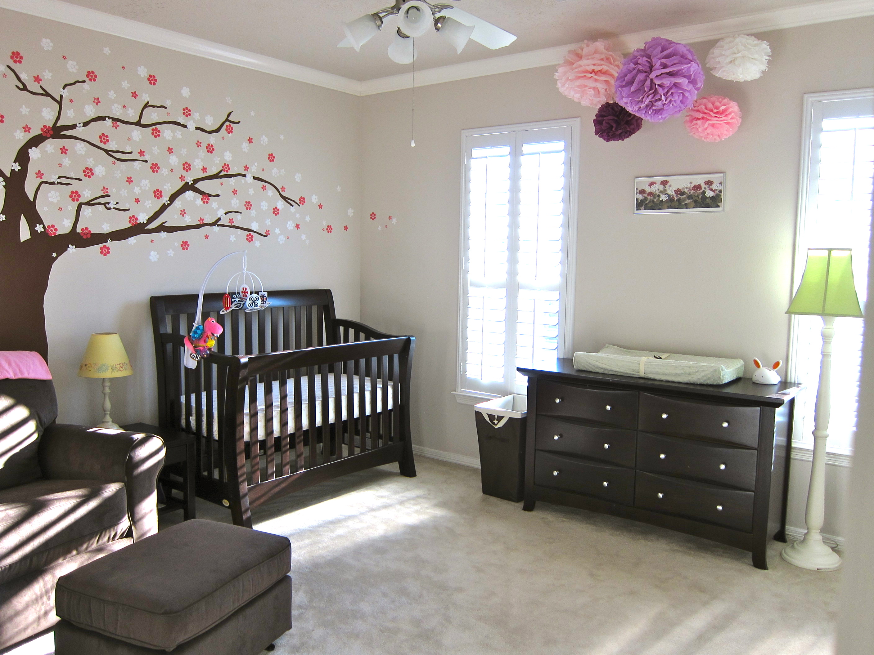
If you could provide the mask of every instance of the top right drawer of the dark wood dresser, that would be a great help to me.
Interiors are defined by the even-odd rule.
[[[643,432],[758,448],[759,415],[758,407],[698,403],[642,393],[638,427]]]

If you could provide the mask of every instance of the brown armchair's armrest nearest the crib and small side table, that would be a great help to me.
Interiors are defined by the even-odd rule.
[[[153,434],[82,425],[51,424],[39,439],[45,478],[124,483],[134,541],[158,531],[156,479],[165,453]]]

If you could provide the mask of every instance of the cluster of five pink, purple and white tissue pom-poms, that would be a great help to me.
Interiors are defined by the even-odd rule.
[[[739,35],[714,45],[706,64],[718,78],[746,82],[761,77],[770,56],[766,41]],[[701,141],[722,141],[740,125],[737,102],[697,97],[704,69],[688,45],[669,38],[651,38],[624,60],[607,41],[584,41],[567,53],[555,78],[565,96],[598,107],[593,124],[604,141],[625,141],[643,121],[666,121],[683,112],[686,130]]]

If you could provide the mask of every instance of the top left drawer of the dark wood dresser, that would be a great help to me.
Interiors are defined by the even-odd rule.
[[[541,381],[538,414],[572,417],[604,427],[637,428],[637,392],[609,391]]]

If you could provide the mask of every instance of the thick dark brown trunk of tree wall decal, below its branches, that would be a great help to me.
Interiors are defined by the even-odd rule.
[[[39,246],[33,239],[0,246],[0,349],[35,350],[47,361],[43,300],[54,258]]]

